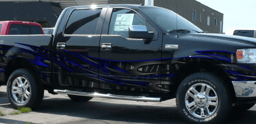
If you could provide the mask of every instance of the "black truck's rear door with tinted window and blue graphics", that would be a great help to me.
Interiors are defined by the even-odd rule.
[[[54,42],[57,84],[99,87],[97,59],[106,11],[107,8],[67,10],[63,19],[68,19],[61,21]]]

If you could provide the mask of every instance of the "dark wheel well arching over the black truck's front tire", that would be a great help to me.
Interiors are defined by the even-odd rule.
[[[228,77],[227,73],[220,66],[218,66],[216,63],[213,63],[213,62],[197,61],[197,62],[186,63],[183,66],[180,66],[176,76],[176,80],[175,80],[177,84],[177,88],[186,77],[196,72],[210,72],[219,76],[225,82],[224,85],[227,86],[228,91],[230,91],[232,102],[236,102],[236,95],[235,95],[235,91],[234,91],[231,79]]]

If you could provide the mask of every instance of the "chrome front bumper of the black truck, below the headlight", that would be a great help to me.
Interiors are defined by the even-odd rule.
[[[232,81],[236,97],[256,97],[256,81]]]

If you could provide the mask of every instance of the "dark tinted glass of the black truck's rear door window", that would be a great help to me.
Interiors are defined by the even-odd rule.
[[[75,10],[71,13],[65,34],[95,34],[101,9]]]

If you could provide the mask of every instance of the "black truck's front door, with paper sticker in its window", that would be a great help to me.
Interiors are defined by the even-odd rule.
[[[128,36],[129,25],[145,25],[153,40]],[[160,92],[162,35],[130,8],[108,8],[100,40],[102,89]]]

